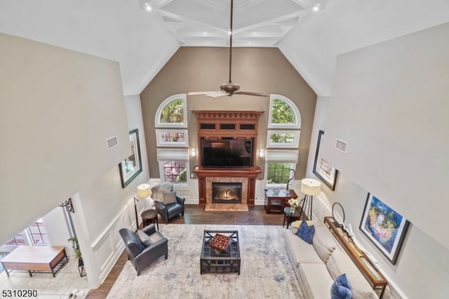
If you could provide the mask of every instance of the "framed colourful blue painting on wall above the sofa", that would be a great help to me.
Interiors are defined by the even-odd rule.
[[[360,230],[394,265],[398,259],[410,222],[401,214],[368,193]]]

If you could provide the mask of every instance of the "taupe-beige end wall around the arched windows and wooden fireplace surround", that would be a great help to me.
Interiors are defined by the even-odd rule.
[[[234,48],[232,58],[232,81],[240,84],[241,91],[285,95],[293,100],[300,109],[302,128],[297,179],[303,178],[309,152],[316,94],[277,48]],[[148,147],[150,177],[159,178],[154,133],[154,114],[159,104],[176,93],[217,91],[220,84],[227,82],[228,79],[229,48],[182,47],[142,91],[140,98]],[[257,148],[265,148],[269,98],[248,95],[233,95],[230,98],[227,96],[209,98],[202,95],[188,95],[189,146],[196,147],[198,144],[196,118],[190,112],[192,109],[264,110],[265,113],[259,121]],[[191,167],[198,164],[197,159],[191,158]],[[257,158],[256,164],[263,169],[264,160]]]

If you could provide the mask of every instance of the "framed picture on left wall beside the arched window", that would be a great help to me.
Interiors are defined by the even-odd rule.
[[[130,155],[119,164],[121,187],[126,187],[142,172],[142,159],[140,157],[139,131],[136,128],[129,131]]]

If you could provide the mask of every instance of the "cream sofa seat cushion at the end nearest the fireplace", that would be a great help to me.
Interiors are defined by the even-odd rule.
[[[297,268],[300,263],[323,264],[323,260],[316,254],[314,246],[307,244],[293,234],[293,230],[285,230],[286,247],[290,253],[290,260],[293,267]]]

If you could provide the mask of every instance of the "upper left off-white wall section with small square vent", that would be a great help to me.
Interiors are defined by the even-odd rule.
[[[119,163],[129,145],[117,62],[6,34],[0,45],[2,244]],[[107,150],[114,135],[119,145]]]

